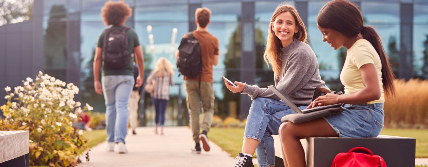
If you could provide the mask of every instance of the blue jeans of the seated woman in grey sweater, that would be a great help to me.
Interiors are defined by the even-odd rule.
[[[300,106],[305,109],[307,106]],[[296,113],[283,101],[258,97],[253,100],[245,125],[244,138],[256,139],[260,143],[256,154],[259,167],[275,166],[275,148],[272,135],[278,134],[281,118]]]

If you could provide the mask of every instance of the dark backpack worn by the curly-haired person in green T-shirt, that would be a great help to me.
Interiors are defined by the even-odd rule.
[[[129,27],[109,28],[104,33],[104,66],[110,69],[123,69],[131,59],[128,53]]]

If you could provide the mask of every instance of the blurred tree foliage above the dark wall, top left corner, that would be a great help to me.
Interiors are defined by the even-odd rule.
[[[0,0],[0,26],[19,23],[33,17],[34,0]]]

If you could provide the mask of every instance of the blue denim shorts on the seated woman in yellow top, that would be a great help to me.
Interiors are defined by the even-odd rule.
[[[343,112],[326,116],[339,137],[377,137],[383,128],[383,103],[345,104]]]

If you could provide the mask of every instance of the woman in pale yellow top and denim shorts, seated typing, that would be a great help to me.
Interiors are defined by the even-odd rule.
[[[344,95],[328,93],[307,108],[343,103],[338,115],[279,128],[286,167],[306,167],[299,139],[307,137],[377,137],[383,128],[383,102],[395,93],[394,75],[375,29],[365,26],[360,10],[346,0],[324,5],[317,17],[322,40],[335,50],[345,47],[345,64],[340,81]],[[386,95],[386,96],[385,96]],[[333,157],[332,157],[333,158]]]

